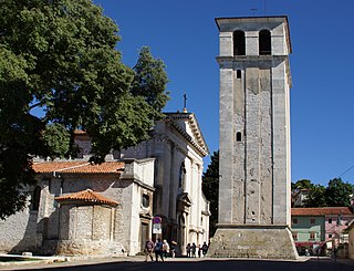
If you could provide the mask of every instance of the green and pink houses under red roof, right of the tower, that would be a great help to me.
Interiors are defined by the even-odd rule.
[[[348,222],[354,218],[348,207],[292,208],[292,236],[299,253],[305,249],[332,249]]]

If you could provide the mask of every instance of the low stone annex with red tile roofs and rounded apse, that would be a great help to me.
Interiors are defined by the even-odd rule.
[[[34,161],[23,211],[0,221],[0,250],[41,254],[135,254],[150,238],[154,158],[92,165]]]

